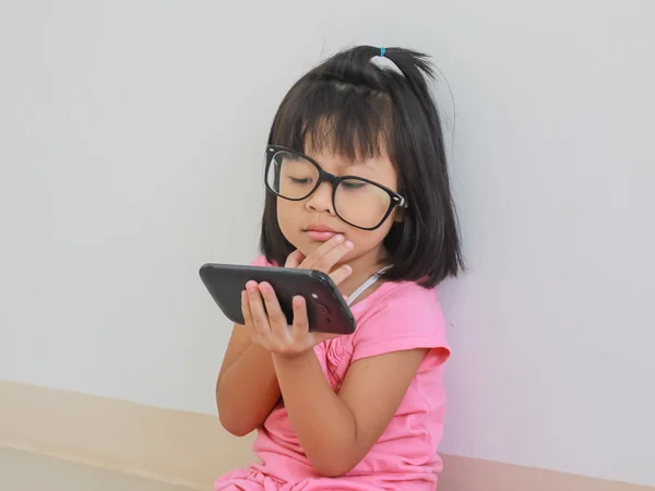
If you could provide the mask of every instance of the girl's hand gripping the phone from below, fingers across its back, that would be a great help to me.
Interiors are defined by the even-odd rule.
[[[294,297],[294,320],[289,326],[273,287],[267,283],[248,282],[241,292],[241,311],[253,343],[285,356],[301,355],[325,339],[327,333],[310,333],[305,298]]]

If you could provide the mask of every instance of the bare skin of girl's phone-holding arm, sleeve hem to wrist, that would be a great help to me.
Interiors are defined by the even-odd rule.
[[[291,426],[320,474],[342,476],[366,456],[427,352],[417,348],[355,361],[338,394],[327,384],[313,350],[297,357],[273,355]]]

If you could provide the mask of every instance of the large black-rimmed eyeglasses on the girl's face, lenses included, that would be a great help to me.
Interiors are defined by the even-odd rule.
[[[345,223],[362,230],[380,227],[397,206],[407,208],[398,193],[357,176],[334,176],[310,157],[278,145],[266,147],[266,189],[289,201],[302,201],[323,182],[332,184],[332,205]]]

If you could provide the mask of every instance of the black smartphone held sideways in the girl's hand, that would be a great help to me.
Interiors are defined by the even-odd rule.
[[[250,280],[271,284],[287,322],[294,319],[293,299],[300,295],[307,304],[309,331],[353,334],[355,318],[343,295],[326,274],[314,270],[204,264],[200,278],[227,319],[243,324],[241,291]]]

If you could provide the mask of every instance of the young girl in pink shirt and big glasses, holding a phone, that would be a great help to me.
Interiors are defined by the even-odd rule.
[[[381,57],[391,63],[382,64]],[[426,56],[360,46],[302,76],[266,147],[258,265],[329,273],[355,334],[309,333],[250,282],[218,374],[223,426],[260,463],[218,490],[434,490],[450,351],[434,287],[461,267]]]

